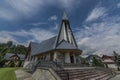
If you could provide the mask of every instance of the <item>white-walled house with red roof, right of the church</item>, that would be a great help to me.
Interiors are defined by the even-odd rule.
[[[102,59],[103,59],[103,63],[106,64],[109,68],[117,68],[114,61],[115,60],[114,56],[103,55]]]

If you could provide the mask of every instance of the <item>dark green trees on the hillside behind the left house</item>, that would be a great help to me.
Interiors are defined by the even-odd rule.
[[[26,54],[27,48],[23,45],[15,45],[12,41],[0,43],[0,67],[5,63],[4,56],[6,53]]]

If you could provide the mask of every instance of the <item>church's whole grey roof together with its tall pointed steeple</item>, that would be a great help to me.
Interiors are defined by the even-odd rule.
[[[36,44],[31,42],[30,55],[38,55],[47,51],[55,49],[78,49],[72,30],[70,28],[69,20],[66,13],[63,15],[59,34],[48,40]]]

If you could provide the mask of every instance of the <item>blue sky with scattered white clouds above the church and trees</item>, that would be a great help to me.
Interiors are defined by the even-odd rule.
[[[53,37],[64,11],[83,54],[120,53],[120,0],[0,0],[0,42]]]

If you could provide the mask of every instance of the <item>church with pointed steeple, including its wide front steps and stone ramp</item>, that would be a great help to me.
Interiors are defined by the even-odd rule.
[[[109,68],[84,66],[81,54],[64,13],[56,36],[30,42],[23,68],[31,76],[26,80],[108,80],[115,75]]]

